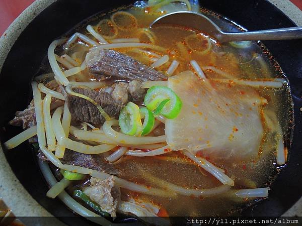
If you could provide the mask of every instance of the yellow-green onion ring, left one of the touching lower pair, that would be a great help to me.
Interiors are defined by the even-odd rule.
[[[120,112],[118,123],[123,134],[139,136],[142,131],[139,107],[128,102]]]

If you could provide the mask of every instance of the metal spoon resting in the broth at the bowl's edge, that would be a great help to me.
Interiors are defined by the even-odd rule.
[[[252,32],[223,32],[206,16],[188,11],[170,13],[156,19],[150,28],[158,25],[181,25],[202,31],[220,43],[252,40],[301,39],[302,27],[280,28]]]

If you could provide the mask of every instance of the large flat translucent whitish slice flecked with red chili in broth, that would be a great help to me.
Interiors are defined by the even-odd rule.
[[[181,98],[180,115],[166,121],[173,150],[202,152],[213,158],[251,158],[259,151],[263,128],[261,105],[267,100],[255,89],[209,82],[186,71],[168,79]]]

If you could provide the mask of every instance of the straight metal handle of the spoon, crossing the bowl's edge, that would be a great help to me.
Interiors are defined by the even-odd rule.
[[[220,42],[252,41],[252,40],[284,40],[302,39],[302,27],[280,28],[252,32],[222,32]]]

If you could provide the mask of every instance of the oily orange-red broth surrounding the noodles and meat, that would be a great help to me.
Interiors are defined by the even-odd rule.
[[[224,31],[244,30],[230,20],[207,9],[199,8],[196,4],[192,5],[192,9],[209,17]],[[277,164],[276,162],[277,152],[280,151],[280,148],[283,152],[283,143],[285,147],[285,159],[287,158],[287,148],[289,148],[287,146],[290,143],[290,132],[293,124],[292,101],[288,82],[279,65],[260,42],[246,41],[221,44],[203,33],[203,31],[196,31],[177,25],[165,25],[149,29],[149,25],[155,19],[168,12],[177,10],[186,10],[186,5],[173,3],[169,6],[164,6],[158,11],[153,11],[146,3],[138,2],[134,6],[96,15],[89,20],[89,25],[92,26],[95,32],[104,37],[104,42],[107,42],[107,44],[123,45],[123,43],[131,44],[138,42],[150,44],[152,46],[150,48],[140,46],[113,48],[115,51],[125,54],[144,65],[154,67],[159,59],[162,59],[165,55],[169,56],[167,62],[156,67],[157,71],[166,76],[165,80],[186,71],[193,71],[196,76],[201,76],[192,64],[192,61],[196,61],[205,76],[203,78],[199,77],[199,79],[205,79],[213,89],[221,86],[229,88],[230,93],[237,92],[236,95],[244,96],[247,93],[251,93],[253,96],[259,96],[259,99],[262,101],[261,103],[256,101],[259,104],[258,112],[262,126],[261,141],[260,144],[257,144],[259,149],[255,155],[244,155],[246,150],[242,150],[239,154],[228,156],[220,155],[219,149],[212,150],[212,152],[203,151],[202,149],[201,151],[194,150],[196,158],[204,159],[214,164],[214,167],[218,167],[216,169],[219,172],[228,175],[235,182],[232,188],[218,195],[202,195],[203,193],[201,193],[198,196],[175,194],[175,192],[171,191],[171,187],[170,190],[168,187],[173,184],[173,186],[183,189],[198,191],[219,187],[221,186],[221,182],[182,151],[171,151],[168,148],[165,150],[167,153],[156,156],[137,157],[123,155],[112,163],[112,166],[120,172],[118,175],[119,178],[144,185],[147,188],[163,188],[166,193],[164,192],[162,195],[150,195],[146,194],[147,192],[140,193],[121,188],[121,200],[134,199],[139,202],[153,203],[165,209],[169,216],[222,216],[238,214],[238,210],[242,210],[251,203],[265,197],[242,197],[236,195],[236,192],[240,191],[240,189],[264,188],[273,182],[279,170],[284,165]],[[101,44],[100,40],[97,40],[86,30],[87,25],[83,24],[74,28],[67,34],[68,38],[74,32],[80,32],[98,45]],[[83,41],[83,38],[80,36],[76,37],[75,40],[68,48],[66,48],[66,44],[59,46],[56,48],[55,53],[57,57],[61,56],[61,59],[68,61],[68,58],[64,57],[64,54],[67,54],[73,60],[70,61],[69,59],[68,62],[73,62],[73,64],[77,64],[80,67],[85,61],[91,45],[87,41]],[[179,65],[171,75],[167,71],[174,61],[177,61]],[[62,61],[59,60],[58,62],[62,71],[66,72],[70,69],[66,62],[61,63]],[[52,72],[50,67],[46,70],[45,66],[42,66],[42,68],[42,72]],[[41,82],[47,83],[47,81],[51,80],[45,75],[42,77],[41,79],[39,74],[39,81]],[[102,81],[105,88],[121,81],[130,81],[130,79],[116,76],[97,76],[90,73],[87,68],[75,75],[69,76],[68,80],[71,82]],[[166,81],[161,82],[161,84],[167,85]],[[281,84],[281,87],[274,87],[275,84]],[[103,88],[98,87],[95,90],[100,91]],[[177,92],[177,90],[174,91]],[[221,99],[219,96],[216,98]],[[145,105],[142,101],[137,104],[139,106]],[[184,105],[185,103],[183,103]],[[254,105],[256,106],[256,103]],[[226,109],[226,107],[224,106],[223,109]],[[249,117],[249,113],[246,116],[237,113],[236,106],[234,106],[234,109],[230,107],[230,111],[232,110],[236,117]],[[193,112],[193,114],[196,114],[196,112]],[[198,112],[198,114],[202,115],[202,112]],[[204,120],[206,121],[207,119]],[[167,136],[167,130],[165,131],[167,128],[160,121],[162,120],[159,119],[157,121],[158,127],[147,136],[158,137],[165,135],[165,133]],[[71,121],[71,125],[77,127],[79,130],[83,130],[83,128],[89,131],[100,130],[102,132],[104,130],[104,127],[95,128],[95,125],[83,122],[80,124],[79,122]],[[219,128],[221,125],[217,124],[216,126]],[[114,129],[117,132],[120,130],[119,127]],[[229,137],[230,140],[234,138],[234,134],[237,131],[238,129],[234,127]],[[181,131],[180,133],[183,132]],[[74,134],[69,136],[70,139],[74,139],[75,137]],[[92,146],[99,144],[93,140],[81,142]],[[147,152],[151,149],[164,146],[161,146],[161,144],[148,145],[143,146],[145,149],[133,148],[135,145],[130,145],[132,147],[130,149]],[[117,146],[117,148],[100,154],[104,161],[121,145]],[[152,148],[151,146],[157,146],[157,148]],[[200,161],[202,162],[203,160]],[[74,184],[77,183],[72,183],[68,187],[70,194],[72,194],[74,189],[79,188],[79,186],[74,186]]]

